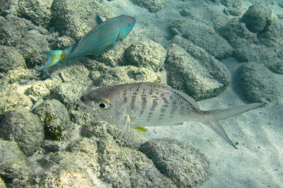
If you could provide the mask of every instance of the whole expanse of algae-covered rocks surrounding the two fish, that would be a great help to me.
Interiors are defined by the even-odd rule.
[[[131,2],[151,13],[169,3]],[[241,1],[218,3],[226,7],[226,22],[206,25],[181,8],[180,18],[164,31],[166,46],[148,33],[132,32],[101,56],[76,58],[42,72],[35,71],[46,61],[42,51],[76,42],[91,30],[93,13],[103,19],[117,13],[105,0],[1,4],[0,187],[200,186],[209,162],[193,146],[166,138],[144,142],[137,130],[121,138],[122,127],[93,118],[77,99],[98,87],[129,82],[168,84],[196,100],[209,99],[233,82],[221,63],[233,57],[241,63],[237,87],[243,99],[277,101],[274,75],[283,73],[282,20],[272,18],[262,4],[243,13]]]

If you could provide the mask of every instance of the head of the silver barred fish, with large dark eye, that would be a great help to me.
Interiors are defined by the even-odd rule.
[[[120,116],[120,105],[115,101],[110,89],[95,89],[79,98],[78,104],[93,111],[97,118],[115,123],[117,116]],[[113,118],[113,119],[110,119]]]

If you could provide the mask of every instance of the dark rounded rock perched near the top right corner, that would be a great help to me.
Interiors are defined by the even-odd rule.
[[[271,9],[262,3],[254,4],[248,8],[241,21],[246,23],[251,32],[262,32],[271,22]]]

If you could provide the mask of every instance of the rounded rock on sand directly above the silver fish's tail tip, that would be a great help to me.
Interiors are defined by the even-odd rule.
[[[259,63],[246,63],[238,70],[243,97],[250,102],[277,101],[279,91],[273,73]]]

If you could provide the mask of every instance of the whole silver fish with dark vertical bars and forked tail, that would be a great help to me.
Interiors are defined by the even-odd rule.
[[[163,84],[141,82],[95,89],[81,96],[79,105],[109,123],[124,125],[122,134],[127,134],[128,127],[146,132],[144,127],[180,125],[194,121],[211,127],[236,148],[217,120],[250,111],[264,103],[202,111],[197,102],[183,92]]]

